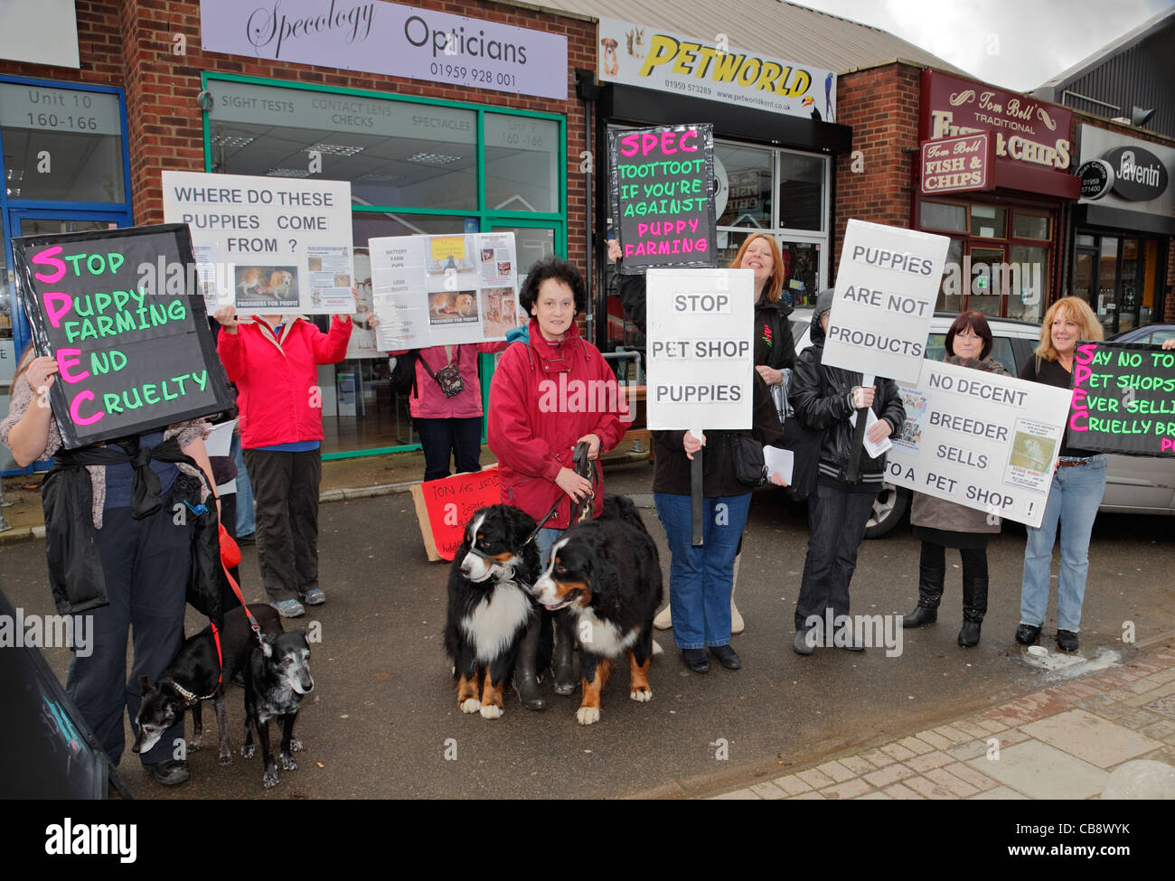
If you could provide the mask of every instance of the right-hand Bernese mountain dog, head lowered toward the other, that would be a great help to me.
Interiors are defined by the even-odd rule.
[[[631,499],[607,496],[599,519],[564,532],[532,592],[548,610],[566,608],[578,618],[583,700],[576,719],[580,725],[599,720],[604,682],[612,661],[625,652],[629,697],[652,700],[649,661],[653,617],[662,600],[660,560]]]

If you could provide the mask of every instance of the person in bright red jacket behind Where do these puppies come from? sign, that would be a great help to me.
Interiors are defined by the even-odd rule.
[[[318,586],[318,484],[322,480],[322,389],[318,364],[347,355],[351,320],[336,315],[330,332],[297,316],[217,310],[216,351],[236,383],[241,446],[257,505],[257,563],[269,601],[296,618],[327,601]]]

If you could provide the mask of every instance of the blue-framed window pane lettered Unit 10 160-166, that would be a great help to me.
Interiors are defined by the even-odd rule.
[[[127,200],[115,94],[0,83],[0,146],[9,200]]]

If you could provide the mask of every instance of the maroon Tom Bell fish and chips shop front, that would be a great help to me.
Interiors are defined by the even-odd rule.
[[[911,227],[951,237],[936,309],[1039,322],[1060,295],[1072,125],[1062,107],[922,70]]]

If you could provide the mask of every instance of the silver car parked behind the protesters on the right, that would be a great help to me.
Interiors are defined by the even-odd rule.
[[[800,310],[795,310],[799,312]],[[807,311],[805,329],[800,332],[793,324],[795,351],[807,349],[811,343],[812,310]],[[793,314],[794,322],[798,316]],[[935,312],[931,320],[931,334],[926,345],[926,357],[941,361],[946,352],[946,335],[958,316],[954,312]],[[1033,354],[1040,342],[1040,325],[1012,318],[988,318],[992,329],[992,357],[1012,375],[1020,372],[1020,365]],[[1144,324],[1109,337],[1107,342],[1147,343],[1160,345],[1175,337],[1175,324]],[[880,538],[892,532],[901,522],[909,506],[909,490],[885,484],[873,503],[873,515],[865,527],[866,538]],[[1175,515],[1175,459],[1140,456],[1108,456],[1106,468],[1106,495],[1099,511],[1116,513]]]

